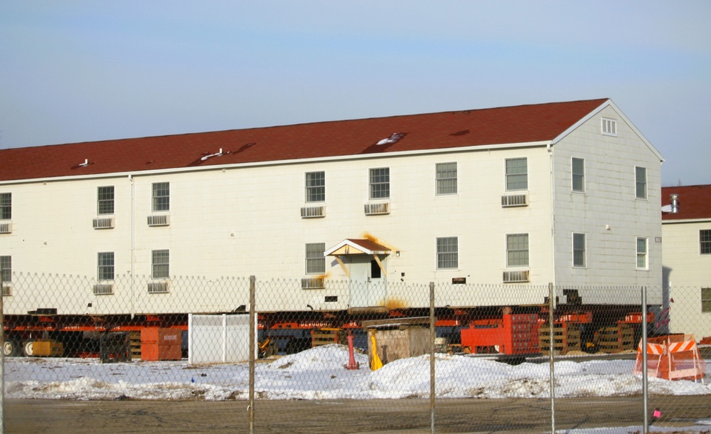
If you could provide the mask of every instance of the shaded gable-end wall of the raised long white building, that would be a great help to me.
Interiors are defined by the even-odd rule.
[[[601,118],[617,121],[602,134]],[[571,158],[585,160],[585,192],[572,191]],[[661,163],[613,107],[606,107],[553,147],[556,287],[634,285],[661,302]],[[647,169],[647,199],[635,197],[635,166]],[[609,228],[608,228],[609,227]],[[572,266],[572,233],[587,234],[587,266]],[[636,269],[636,238],[648,238],[648,269]],[[559,292],[559,296],[562,293]],[[636,289],[589,292],[584,303],[639,303]]]

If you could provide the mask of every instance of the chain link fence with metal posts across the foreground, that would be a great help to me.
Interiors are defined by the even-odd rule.
[[[644,430],[711,418],[704,288],[2,282],[4,403],[183,401],[210,412],[203,403],[231,402],[239,411],[221,423],[256,433]],[[274,417],[296,401],[347,412],[321,428],[316,413]]]

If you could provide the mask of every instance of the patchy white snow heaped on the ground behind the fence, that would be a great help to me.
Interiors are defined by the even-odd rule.
[[[260,399],[429,396],[429,356],[392,361],[378,371],[368,369],[365,354],[356,353],[355,359],[360,369],[344,369],[348,349],[332,344],[260,361],[255,366],[255,391]],[[438,398],[550,396],[547,364],[510,366],[490,359],[447,354],[437,354],[435,363]],[[555,396],[638,396],[642,380],[632,374],[633,369],[634,360],[557,361]],[[6,398],[244,400],[249,390],[249,364],[188,366],[184,360],[100,364],[97,359],[7,358],[5,381]],[[704,383],[650,378],[649,386],[652,395],[709,395],[711,402],[708,374]],[[711,426],[705,429],[711,430]]]

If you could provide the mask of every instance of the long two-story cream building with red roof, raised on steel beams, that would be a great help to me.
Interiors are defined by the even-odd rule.
[[[92,300],[96,313],[170,312],[176,276],[294,280],[272,306],[283,310],[412,305],[397,293],[408,282],[529,286],[520,305],[542,304],[549,283],[560,302],[584,304],[613,302],[584,287],[661,287],[663,158],[608,99],[4,149],[0,160],[6,275],[93,282],[52,297],[60,313]],[[329,290],[336,281],[350,289]],[[482,304],[455,287],[460,303]],[[6,293],[6,313],[37,307]],[[189,309],[225,309],[210,303]]]

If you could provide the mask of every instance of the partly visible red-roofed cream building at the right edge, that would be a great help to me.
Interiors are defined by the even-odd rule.
[[[675,196],[674,209],[670,196]],[[663,314],[671,333],[711,337],[711,185],[665,187]]]

